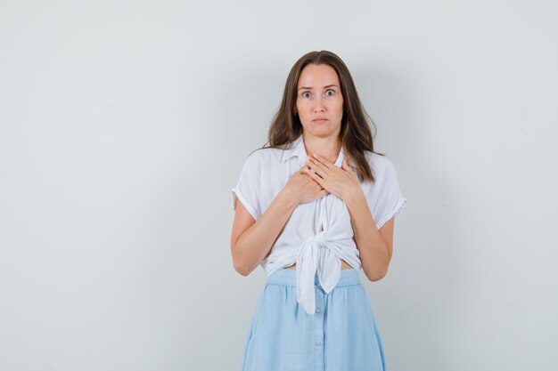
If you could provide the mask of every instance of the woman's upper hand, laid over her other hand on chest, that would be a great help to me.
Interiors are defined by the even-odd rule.
[[[304,171],[308,176],[320,184],[324,190],[346,201],[362,192],[358,184],[357,174],[353,173],[347,159],[344,158],[341,167],[337,167],[324,157],[314,154],[307,159],[308,169]],[[312,172],[310,169],[313,169]]]

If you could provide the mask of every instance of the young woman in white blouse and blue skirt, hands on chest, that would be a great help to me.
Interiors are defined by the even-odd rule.
[[[269,146],[250,154],[232,190],[234,269],[267,272],[241,371],[386,369],[358,272],[385,276],[406,198],[370,125],[337,55],[294,64]]]

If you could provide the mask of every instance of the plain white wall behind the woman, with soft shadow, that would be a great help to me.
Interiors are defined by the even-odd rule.
[[[348,64],[405,211],[391,371],[558,367],[551,1],[0,3],[0,370],[236,370],[230,189],[291,65]]]

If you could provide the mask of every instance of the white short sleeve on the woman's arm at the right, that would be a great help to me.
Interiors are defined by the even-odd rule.
[[[406,198],[399,189],[398,174],[388,157],[380,157],[382,165],[374,173],[375,182],[365,190],[376,227],[380,230],[392,216],[398,217],[406,206]],[[373,169],[374,170],[374,169]]]

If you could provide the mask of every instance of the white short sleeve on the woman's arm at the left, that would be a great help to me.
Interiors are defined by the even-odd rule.
[[[231,190],[233,196],[233,211],[236,210],[235,200],[238,198],[255,220],[258,220],[261,216],[259,202],[261,168],[257,153],[258,151],[252,152],[246,159],[242,166],[240,179]]]

